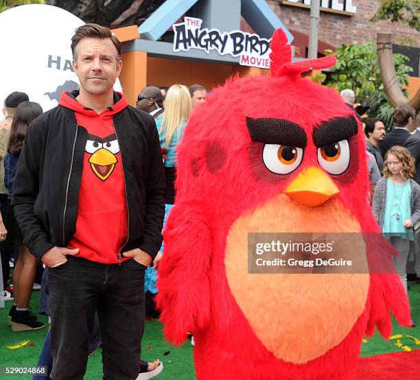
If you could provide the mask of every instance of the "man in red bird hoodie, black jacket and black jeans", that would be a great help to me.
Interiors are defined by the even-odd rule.
[[[83,378],[97,311],[104,379],[133,380],[144,272],[162,241],[159,137],[154,119],[113,91],[121,45],[108,28],[82,25],[71,50],[80,90],[30,126],[12,206],[25,245],[49,267],[51,378]]]

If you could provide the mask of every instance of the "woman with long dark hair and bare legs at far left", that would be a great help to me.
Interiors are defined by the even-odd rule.
[[[26,331],[42,329],[44,324],[39,322],[36,316],[29,311],[30,296],[36,274],[36,259],[23,245],[21,230],[14,218],[10,207],[12,198],[14,176],[23,147],[23,142],[30,123],[43,113],[38,103],[23,102],[16,108],[16,114],[10,128],[8,152],[4,158],[4,182],[8,189],[8,206],[5,217],[8,233],[15,239],[19,250],[19,257],[13,271],[14,304],[9,312],[12,331]]]

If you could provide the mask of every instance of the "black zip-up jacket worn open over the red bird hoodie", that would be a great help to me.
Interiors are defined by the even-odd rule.
[[[140,248],[154,258],[161,247],[165,214],[156,124],[147,113],[128,106],[114,115],[114,126],[128,207],[128,239],[117,254]],[[31,123],[14,178],[12,206],[23,243],[38,260],[54,246],[67,246],[75,233],[87,138],[73,110],[62,106]]]

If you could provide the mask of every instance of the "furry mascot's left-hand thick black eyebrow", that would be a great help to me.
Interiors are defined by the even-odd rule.
[[[253,141],[289,147],[306,147],[307,137],[302,127],[283,119],[253,119],[246,117],[246,126]]]

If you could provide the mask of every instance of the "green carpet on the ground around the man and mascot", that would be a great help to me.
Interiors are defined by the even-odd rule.
[[[400,333],[403,337],[400,339],[401,344],[407,345],[412,349],[420,348],[406,335],[412,335],[420,339],[420,285],[410,283],[411,289],[408,292],[412,307],[412,316],[418,322],[414,329],[403,329],[394,322],[394,333]],[[38,331],[12,333],[7,324],[7,314],[10,302],[5,303],[5,309],[0,309],[0,367],[1,366],[35,366],[38,355],[43,346],[46,328]],[[32,309],[38,307],[38,292],[32,294]],[[40,320],[47,323],[47,318],[40,316]],[[35,346],[18,348],[9,350],[7,345],[15,342],[30,340]],[[362,344],[362,357],[379,355],[382,353],[391,353],[402,351],[401,348],[395,346],[397,340],[386,341],[375,333],[372,340]],[[165,355],[166,354],[166,355]],[[194,380],[194,366],[192,359],[192,346],[190,342],[183,344],[180,348],[167,344],[162,337],[162,326],[159,322],[145,322],[145,331],[143,335],[142,358],[147,361],[153,361],[159,357],[165,366],[161,375],[156,377],[159,380]],[[28,376],[1,376],[1,380],[17,380],[30,379]],[[86,371],[86,380],[102,379],[102,362],[101,350],[98,349],[88,361]]]

